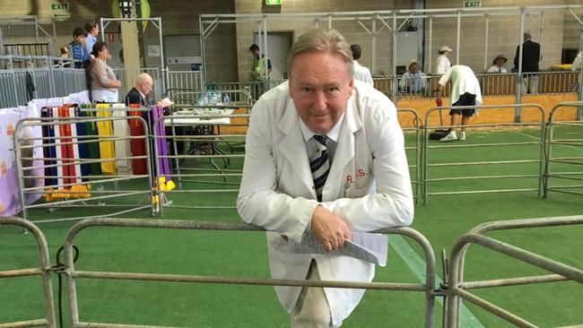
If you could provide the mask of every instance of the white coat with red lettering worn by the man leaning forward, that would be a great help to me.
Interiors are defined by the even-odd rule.
[[[271,231],[267,244],[272,276],[303,280],[313,258],[323,281],[371,281],[370,263],[347,256],[292,254],[280,236],[300,241],[318,206],[288,82],[266,92],[253,107],[245,148],[237,208],[244,221]],[[364,82],[354,81],[322,200],[352,231],[406,226],[413,220],[413,193],[395,105]],[[288,313],[300,290],[275,287]],[[325,293],[333,324],[339,324],[364,290],[326,288]]]

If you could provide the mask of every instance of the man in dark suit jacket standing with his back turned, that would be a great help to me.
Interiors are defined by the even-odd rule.
[[[522,93],[535,93],[538,89],[538,62],[541,60],[541,45],[532,40],[533,36],[529,31],[524,34],[525,42],[522,44]],[[517,54],[514,56],[514,66],[518,68],[518,54],[520,46],[517,47]]]

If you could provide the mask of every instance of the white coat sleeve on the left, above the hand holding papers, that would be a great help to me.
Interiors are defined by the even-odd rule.
[[[277,231],[300,242],[318,202],[277,190],[274,156],[277,150],[272,138],[275,126],[269,117],[269,112],[274,111],[269,108],[271,105],[265,105],[265,101],[260,100],[251,111],[237,210],[245,222]],[[274,106],[278,105],[284,106],[281,103]]]

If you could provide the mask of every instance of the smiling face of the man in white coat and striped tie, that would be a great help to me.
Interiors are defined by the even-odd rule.
[[[327,134],[342,117],[352,84],[340,54],[312,51],[293,60],[290,97],[301,121],[317,134]]]

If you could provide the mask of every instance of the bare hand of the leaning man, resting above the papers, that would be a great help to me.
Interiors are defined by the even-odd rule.
[[[352,233],[344,220],[322,206],[312,212],[311,231],[326,252],[343,248],[344,239],[352,239]]]

